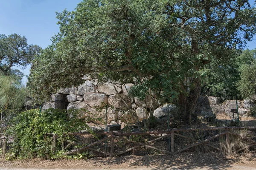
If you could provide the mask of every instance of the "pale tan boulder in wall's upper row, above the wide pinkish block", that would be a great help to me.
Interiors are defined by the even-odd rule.
[[[116,90],[118,91],[118,93],[120,93],[122,91],[122,89],[117,87],[116,85],[115,85],[115,87],[116,87]],[[109,82],[99,82],[97,90],[100,93],[108,95],[108,96],[116,94],[115,88],[113,87],[112,83],[109,83]]]

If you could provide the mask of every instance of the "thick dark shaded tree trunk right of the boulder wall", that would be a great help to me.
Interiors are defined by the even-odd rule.
[[[192,115],[195,114],[196,103],[200,95],[201,90],[201,79],[195,78],[189,82],[189,94],[188,96],[185,93],[180,94],[179,104],[180,104],[180,113],[181,119],[185,124],[189,124],[192,121]],[[183,85],[183,91],[186,91],[186,86]],[[194,116],[195,117],[195,116]]]

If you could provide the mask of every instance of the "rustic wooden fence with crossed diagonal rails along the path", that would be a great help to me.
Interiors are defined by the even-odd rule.
[[[184,136],[182,134],[179,134],[180,132],[211,131],[211,130],[218,130],[218,131],[224,130],[224,131],[221,132],[221,133],[215,134],[214,136],[211,136],[207,139],[201,140],[201,141],[199,141],[197,139],[193,139],[192,137],[189,137],[189,136]],[[95,133],[99,134],[99,135],[105,135],[106,137],[104,137],[103,139],[100,139],[96,142],[90,143],[87,146],[81,147],[79,149],[70,150],[70,151],[64,153],[64,155],[71,155],[71,154],[75,154],[75,153],[81,153],[84,150],[88,149],[88,150],[93,150],[97,153],[104,154],[106,156],[113,157],[113,156],[119,156],[119,155],[122,155],[124,153],[130,152],[130,151],[135,150],[139,147],[146,147],[146,148],[158,150],[160,152],[167,153],[167,154],[175,154],[175,153],[180,153],[180,152],[183,152],[185,150],[188,150],[189,148],[196,147],[196,146],[202,145],[202,144],[204,144],[208,147],[211,147],[215,150],[221,151],[220,147],[216,147],[212,144],[207,143],[207,142],[211,141],[212,139],[216,139],[220,136],[225,136],[227,152],[231,153],[230,135],[239,136],[239,134],[234,133],[233,130],[256,130],[256,127],[206,127],[206,128],[172,129],[172,130],[164,130],[164,131],[147,131],[147,132],[117,132],[117,131],[104,132],[104,131],[100,131],[100,132],[95,132]],[[91,135],[90,132],[76,132],[76,133],[68,133],[68,134],[69,135]],[[160,136],[156,139],[152,139],[150,141],[143,142],[143,143],[135,142],[135,141],[130,140],[130,139],[125,137],[125,136],[138,136],[138,135],[152,135],[152,134],[164,134],[164,135]],[[54,135],[54,134],[48,134],[48,135]],[[175,144],[174,144],[175,136],[179,136],[179,137],[184,138],[184,139],[189,139],[190,141],[193,141],[193,143],[186,146],[186,147],[183,147],[179,150],[177,150],[177,149],[175,150],[175,147],[174,147],[175,146]],[[156,141],[159,141],[160,139],[164,139],[164,138],[170,138],[170,150],[163,150],[162,148],[157,148],[157,147],[149,145],[149,144],[152,144],[152,143],[154,143]],[[6,141],[5,136],[2,136],[0,139]],[[110,139],[110,141],[111,141],[110,142],[110,152],[107,152],[107,150],[100,151],[98,149],[92,148],[94,145],[105,142],[108,139]],[[115,150],[114,150],[115,140],[123,140],[123,141],[134,143],[135,145],[133,147],[130,147],[130,148],[128,148],[126,150],[123,150],[121,152],[115,152]],[[256,145],[256,142],[251,140],[251,139],[244,139],[244,140],[246,140],[246,142],[248,144],[245,147],[241,148],[238,152],[240,152],[242,150],[245,150],[245,149],[247,149],[247,148],[249,148],[253,145]],[[4,142],[4,143],[5,143],[5,145],[3,145],[3,147],[6,147],[6,142]],[[4,148],[4,150],[6,150],[6,148]]]

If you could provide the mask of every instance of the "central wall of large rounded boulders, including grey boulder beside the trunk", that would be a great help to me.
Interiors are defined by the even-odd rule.
[[[134,122],[131,112],[128,111],[129,109],[136,112],[140,121],[148,117],[150,105],[146,106],[145,101],[141,102],[136,97],[134,98],[128,94],[128,91],[134,85],[133,83],[113,82],[113,86],[111,81],[99,82],[98,79],[91,79],[87,76],[84,76],[83,79],[84,83],[78,87],[60,89],[56,94],[52,94],[50,101],[43,105],[42,110],[63,106],[67,110],[82,108],[89,112],[84,112],[84,116],[90,115],[93,118],[102,118],[102,122],[94,120],[95,123],[99,124],[105,122],[106,105],[108,123],[113,121],[117,123]],[[60,99],[62,99],[61,102]],[[157,118],[166,116],[166,108],[167,105],[160,106],[154,111],[153,115]],[[169,112],[177,111],[176,108],[175,105],[170,104]]]

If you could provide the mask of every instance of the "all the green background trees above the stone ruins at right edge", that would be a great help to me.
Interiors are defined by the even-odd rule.
[[[255,56],[255,49],[242,52],[234,50],[230,53],[230,59],[221,65],[210,63],[204,70],[201,94],[218,96],[221,101],[244,99],[254,94]]]

